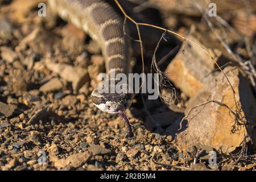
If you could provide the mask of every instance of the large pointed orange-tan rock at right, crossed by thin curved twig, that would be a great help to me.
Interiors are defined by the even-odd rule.
[[[206,105],[193,109],[187,117],[188,125],[183,131],[178,133],[174,140],[179,150],[204,144],[211,146],[218,151],[230,153],[241,147],[245,135],[255,135],[255,129],[247,124],[245,129],[245,118],[247,122],[256,124],[256,101],[251,93],[250,87],[240,71],[234,67],[226,67],[224,72],[228,76],[233,85],[238,112],[244,117],[238,125],[234,121],[234,115],[229,110],[216,103],[210,102]],[[208,100],[216,100],[226,104],[233,111],[236,109],[233,92],[226,78],[222,73],[218,73],[216,81],[212,81],[207,88],[202,90],[196,97],[189,100],[185,114],[189,110],[199,104],[203,104]],[[255,138],[252,137],[255,144]]]

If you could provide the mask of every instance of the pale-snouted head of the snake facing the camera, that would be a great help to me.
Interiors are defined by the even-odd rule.
[[[128,109],[132,97],[131,93],[98,93],[97,89],[94,89],[91,94],[93,104],[101,111],[110,114],[119,114],[118,111]]]

